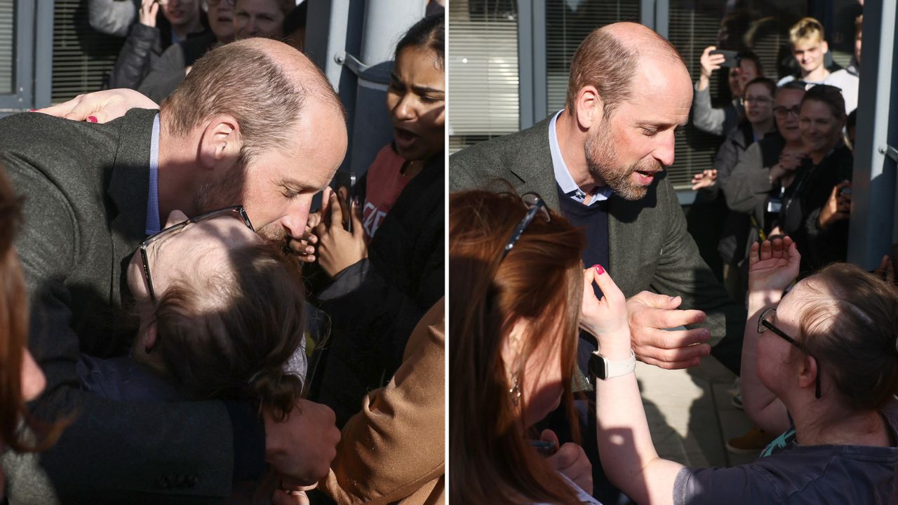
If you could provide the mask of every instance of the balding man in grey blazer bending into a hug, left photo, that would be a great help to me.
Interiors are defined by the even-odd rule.
[[[249,403],[119,403],[80,390],[75,363],[129,345],[110,331],[125,317],[123,265],[172,210],[243,204],[261,235],[302,235],[346,148],[325,77],[262,39],[198,60],[160,111],[0,120],[0,159],[26,197],[30,346],[48,378],[35,412],[72,420],[46,453],[4,457],[14,502],[220,501],[265,462],[295,483],[327,474],[339,431],[325,406],[301,400],[277,422]]]

